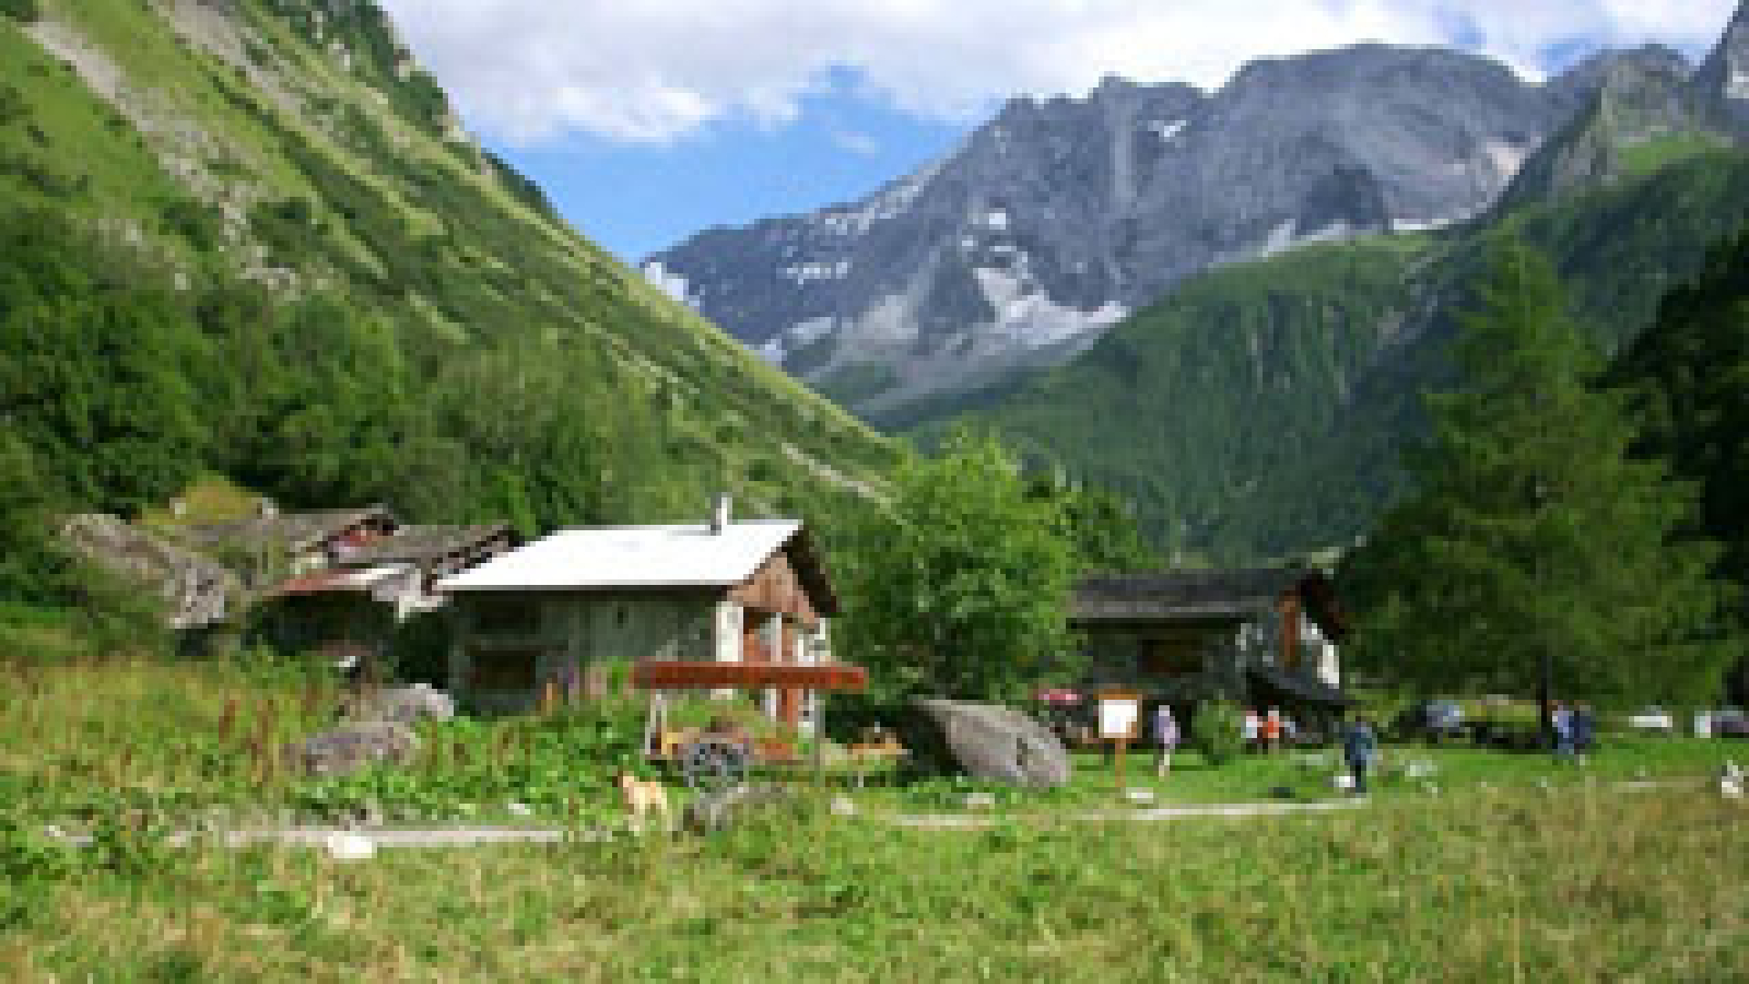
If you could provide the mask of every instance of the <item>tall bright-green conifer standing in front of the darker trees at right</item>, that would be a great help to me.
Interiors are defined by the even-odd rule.
[[[1413,494],[1350,560],[1357,657],[1422,686],[1693,700],[1725,650],[1714,545],[1684,538],[1691,488],[1632,455],[1620,390],[1564,312],[1550,264],[1502,242],[1455,359],[1466,385],[1429,397]]]

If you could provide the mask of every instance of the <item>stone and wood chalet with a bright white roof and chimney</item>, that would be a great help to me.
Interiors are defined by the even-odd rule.
[[[437,588],[453,599],[449,692],[497,713],[603,695],[638,664],[827,664],[838,613],[799,522],[729,522],[726,506],[698,525],[563,529]],[[815,718],[808,692],[763,697],[775,720]]]

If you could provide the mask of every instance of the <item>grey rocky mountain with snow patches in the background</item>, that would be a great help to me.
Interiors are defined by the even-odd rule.
[[[876,420],[1062,362],[1210,266],[1490,207],[1618,63],[1546,86],[1445,49],[1245,67],[1217,93],[1107,79],[1007,103],[850,205],[712,229],[645,261],[673,296]]]

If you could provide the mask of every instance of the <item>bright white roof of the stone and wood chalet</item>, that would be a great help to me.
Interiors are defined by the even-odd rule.
[[[563,529],[437,581],[441,592],[728,587],[754,571],[801,524]]]

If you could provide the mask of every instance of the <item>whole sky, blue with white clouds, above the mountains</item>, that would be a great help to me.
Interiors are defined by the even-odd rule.
[[[1014,95],[1107,72],[1217,88],[1256,58],[1455,44],[1527,75],[1698,58],[1735,0],[381,0],[490,147],[628,261],[861,198]]]

